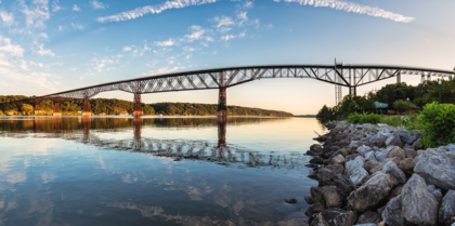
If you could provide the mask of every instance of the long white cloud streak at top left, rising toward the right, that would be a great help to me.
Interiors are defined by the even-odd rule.
[[[129,21],[134,19],[141,16],[144,16],[146,14],[158,14],[161,13],[165,10],[170,9],[181,9],[186,8],[191,5],[200,5],[200,4],[207,4],[207,3],[213,3],[218,0],[174,0],[174,1],[166,1],[161,4],[157,5],[146,5],[142,8],[136,8],[134,10],[126,11],[122,13],[118,13],[110,16],[105,17],[99,17],[98,21],[101,23],[108,23],[108,22],[122,22],[122,21]]]

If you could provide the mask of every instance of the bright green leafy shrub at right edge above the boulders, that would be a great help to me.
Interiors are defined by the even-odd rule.
[[[437,147],[455,142],[455,105],[427,104],[421,111],[424,134],[420,144],[425,147]]]

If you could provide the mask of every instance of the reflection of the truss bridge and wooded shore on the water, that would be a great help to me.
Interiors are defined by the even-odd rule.
[[[23,131],[32,130],[35,138],[62,138],[82,143],[89,146],[106,150],[123,150],[143,152],[157,157],[172,158],[174,161],[182,159],[217,162],[224,165],[246,167],[272,167],[272,168],[302,168],[307,157],[300,154],[265,152],[253,150],[226,143],[227,125],[240,125],[247,123],[260,123],[268,118],[115,118],[115,117],[30,117],[32,124],[24,120],[21,133],[13,123],[3,123],[1,136],[24,137]],[[17,124],[17,122],[14,122]],[[30,127],[31,125],[31,127]],[[177,127],[176,127],[177,125]],[[112,133],[130,131],[132,127],[132,138],[104,138]],[[143,129],[150,128],[212,128],[218,129],[218,141],[210,139],[166,139],[143,137]],[[94,131],[94,132],[91,132]]]

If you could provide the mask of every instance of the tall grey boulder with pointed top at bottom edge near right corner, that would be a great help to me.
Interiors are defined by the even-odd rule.
[[[417,225],[435,225],[438,223],[438,200],[427,189],[427,183],[414,174],[401,191],[403,217]]]

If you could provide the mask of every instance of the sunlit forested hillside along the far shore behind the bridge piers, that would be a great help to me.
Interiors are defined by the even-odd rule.
[[[0,103],[16,102],[30,96],[2,96],[0,95]],[[82,110],[83,99],[63,102],[61,103],[61,110],[63,115],[78,115]],[[157,104],[142,104],[144,115],[167,115],[167,116],[214,116],[217,115],[218,105],[209,104],[192,104],[192,103],[157,103]],[[47,115],[52,115],[54,110],[54,103],[44,101],[39,105],[39,109]],[[116,98],[91,98],[90,109],[93,114],[118,115],[121,112],[131,114],[133,111],[133,103]],[[0,105],[0,115],[32,115],[34,106],[25,103],[11,103],[8,105]],[[289,112],[278,110],[264,110],[259,108],[248,108],[238,106],[227,106],[227,114],[230,116],[272,116],[272,117],[292,117]]]

